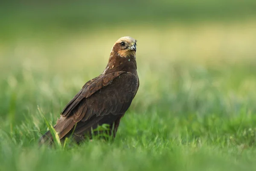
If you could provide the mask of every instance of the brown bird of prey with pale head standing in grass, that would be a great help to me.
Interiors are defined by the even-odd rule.
[[[64,107],[53,127],[61,140],[73,136],[76,142],[89,137],[98,125],[108,124],[109,134],[116,136],[121,118],[139,88],[136,63],[136,40],[119,38],[114,43],[108,64],[98,77],[88,81]],[[51,144],[48,130],[39,144]]]

